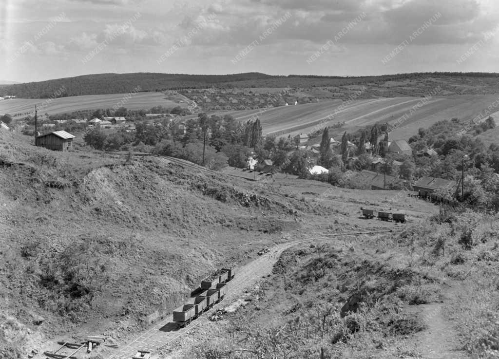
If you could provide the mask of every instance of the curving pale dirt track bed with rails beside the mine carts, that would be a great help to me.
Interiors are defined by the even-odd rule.
[[[132,355],[137,353],[138,349],[148,350],[151,352],[158,351],[187,334],[192,329],[198,326],[206,325],[209,321],[208,318],[211,312],[236,301],[244,294],[247,288],[254,286],[262,276],[270,274],[274,263],[279,259],[281,253],[292,246],[305,242],[328,241],[338,237],[367,237],[388,234],[390,232],[391,231],[389,230],[384,230],[377,232],[337,233],[324,237],[311,237],[278,244],[272,247],[270,252],[256,258],[245,266],[238,268],[236,277],[228,284],[228,293],[226,294],[224,301],[215,305],[210,312],[205,313],[191,325],[177,330],[176,324],[173,323],[173,317],[168,316],[160,323],[157,323],[147,331],[143,332],[136,339],[130,341],[124,346],[120,346],[118,350],[103,349],[101,354],[108,359],[129,359]]]

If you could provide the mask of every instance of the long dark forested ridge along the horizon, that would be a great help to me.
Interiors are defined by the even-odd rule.
[[[468,86],[497,86],[498,73],[481,72],[427,72],[381,76],[272,76],[259,72],[230,75],[188,75],[137,72],[128,74],[93,74],[54,80],[2,85],[0,95],[15,95],[19,98],[49,98],[79,95],[102,95],[128,93],[131,91],[163,91],[187,88],[254,88],[254,87],[327,87],[345,85],[376,84],[384,81],[449,79]]]

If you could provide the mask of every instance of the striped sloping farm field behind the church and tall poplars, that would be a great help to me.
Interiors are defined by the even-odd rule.
[[[423,103],[421,97],[392,97],[367,100],[354,100],[344,107],[340,100],[319,103],[281,106],[259,110],[224,112],[241,121],[260,119],[263,132],[270,135],[294,136],[309,133],[325,126],[343,122],[344,125],[330,130],[332,136],[344,131],[353,132],[358,128],[375,123],[395,124],[407,114],[392,132],[392,139],[408,139],[421,127],[429,127],[440,120],[454,117],[472,120],[495,100],[497,95],[440,96]],[[411,108],[416,111],[409,116]],[[337,113],[335,114],[335,111]]]

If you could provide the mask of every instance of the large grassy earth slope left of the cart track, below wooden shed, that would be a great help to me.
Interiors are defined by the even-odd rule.
[[[128,337],[215,268],[299,227],[288,201],[161,158],[57,153],[11,134],[0,145],[0,309],[33,338]],[[5,333],[0,351],[15,357],[22,341]]]

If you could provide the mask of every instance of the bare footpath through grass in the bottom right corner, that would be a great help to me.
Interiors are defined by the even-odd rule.
[[[462,350],[453,323],[445,317],[446,306],[450,298],[458,295],[457,286],[446,286],[443,289],[443,302],[422,304],[420,316],[427,329],[415,336],[417,351],[428,359],[467,359],[469,356]]]

